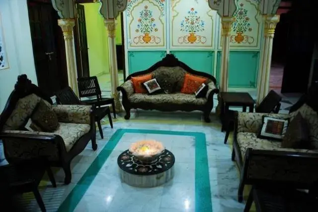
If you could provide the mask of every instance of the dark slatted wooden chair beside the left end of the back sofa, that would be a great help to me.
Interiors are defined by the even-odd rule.
[[[114,98],[102,98],[101,90],[96,76],[78,78],[79,99],[82,104],[94,105],[96,107],[112,105],[114,118],[116,118],[116,110]],[[81,98],[96,97],[94,99],[82,100]]]

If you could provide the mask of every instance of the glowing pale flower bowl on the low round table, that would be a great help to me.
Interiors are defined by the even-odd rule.
[[[158,141],[144,140],[133,143],[129,148],[129,152],[141,161],[153,162],[157,160],[164,149],[163,145]]]

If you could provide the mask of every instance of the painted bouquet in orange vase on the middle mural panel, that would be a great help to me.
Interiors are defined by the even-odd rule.
[[[201,20],[198,12],[191,8],[184,20],[181,21],[180,31],[189,33],[188,41],[193,44],[197,40],[195,33],[204,31],[204,25],[205,23]]]

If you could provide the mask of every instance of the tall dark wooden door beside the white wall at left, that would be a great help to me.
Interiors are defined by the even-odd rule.
[[[38,86],[53,96],[67,82],[66,66],[60,61],[63,48],[58,48],[58,14],[49,0],[28,0],[28,13]]]

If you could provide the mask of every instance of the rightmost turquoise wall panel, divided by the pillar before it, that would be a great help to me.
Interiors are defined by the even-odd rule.
[[[222,52],[217,55],[216,79],[220,81]],[[256,88],[259,51],[230,51],[229,87]]]

